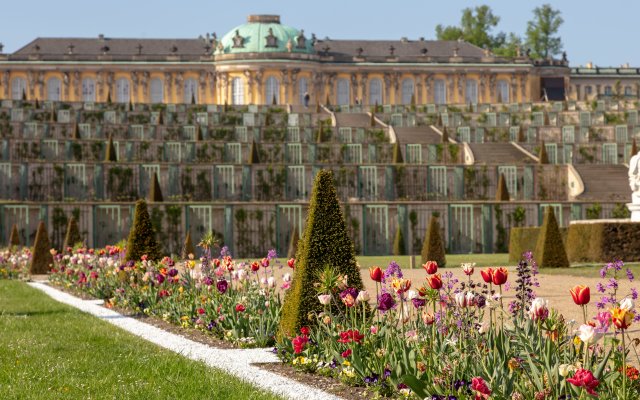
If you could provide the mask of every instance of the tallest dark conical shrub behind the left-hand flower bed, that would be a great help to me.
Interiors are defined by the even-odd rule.
[[[129,231],[127,241],[127,260],[139,261],[140,257],[147,255],[149,260],[162,258],[160,244],[156,240],[156,233],[151,225],[151,218],[144,200],[136,202],[136,211]]]

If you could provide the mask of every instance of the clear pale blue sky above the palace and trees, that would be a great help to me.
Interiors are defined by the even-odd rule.
[[[222,36],[248,14],[279,14],[307,35],[332,39],[434,38],[439,23],[457,24],[460,10],[489,5],[498,30],[524,35],[534,7],[550,3],[565,22],[560,34],[572,66],[630,63],[640,67],[639,1],[555,0],[525,2],[432,0],[28,0],[0,10],[0,42],[13,52],[35,37],[184,38]]]

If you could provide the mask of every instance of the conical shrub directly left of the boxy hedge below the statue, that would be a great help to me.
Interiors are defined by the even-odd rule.
[[[567,251],[562,242],[553,207],[547,207],[544,213],[534,256],[542,268],[569,268]]]

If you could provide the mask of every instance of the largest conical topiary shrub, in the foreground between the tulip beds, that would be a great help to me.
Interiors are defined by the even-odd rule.
[[[310,314],[323,310],[314,283],[326,267],[346,275],[350,287],[362,289],[353,242],[347,233],[331,171],[320,170],[316,175],[306,229],[298,246],[295,274],[282,306],[281,337],[295,335],[301,326],[312,323]]]

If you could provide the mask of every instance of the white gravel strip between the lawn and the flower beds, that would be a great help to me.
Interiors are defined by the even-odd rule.
[[[216,349],[202,343],[194,342],[180,335],[164,331],[134,318],[126,317],[113,310],[102,307],[102,302],[100,301],[82,300],[42,282],[31,282],[29,285],[43,291],[54,300],[103,319],[151,343],[155,343],[158,346],[169,349],[192,360],[203,361],[211,367],[224,370],[261,389],[271,391],[285,398],[310,400],[341,399],[322,390],[251,365],[252,363],[280,362],[270,349]]]

